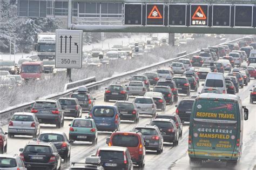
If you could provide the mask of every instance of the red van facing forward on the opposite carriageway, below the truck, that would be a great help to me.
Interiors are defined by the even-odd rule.
[[[22,63],[19,72],[24,80],[42,80],[44,79],[43,62],[24,62]]]

